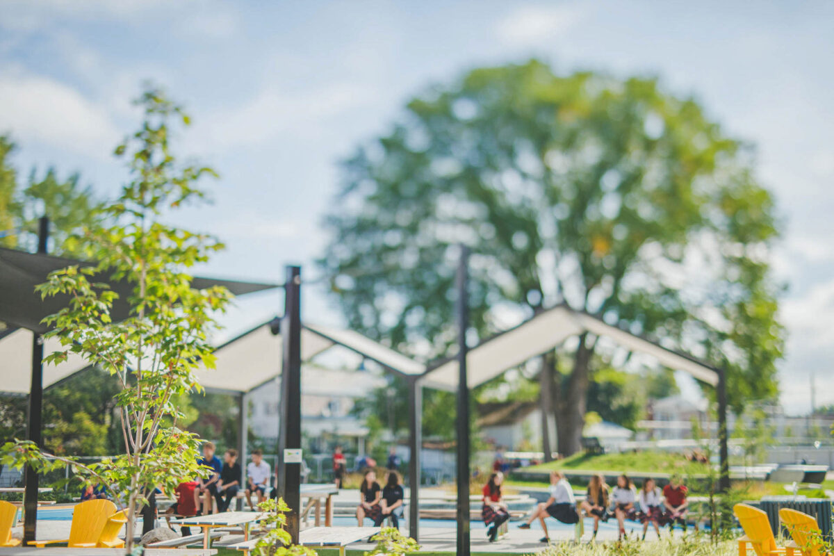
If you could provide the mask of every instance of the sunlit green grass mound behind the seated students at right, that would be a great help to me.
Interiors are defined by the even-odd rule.
[[[522,469],[522,471],[546,473],[552,469],[598,472],[609,475],[623,472],[693,475],[706,473],[706,464],[687,461],[680,453],[625,452],[600,455],[577,453],[570,458],[532,465]]]

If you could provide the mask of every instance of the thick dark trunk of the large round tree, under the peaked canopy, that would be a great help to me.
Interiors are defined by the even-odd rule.
[[[582,449],[582,428],[585,427],[590,376],[588,363],[593,348],[588,347],[588,334],[579,338],[574,356],[574,368],[568,378],[567,388],[559,388],[556,403],[557,447],[563,456],[570,456]]]

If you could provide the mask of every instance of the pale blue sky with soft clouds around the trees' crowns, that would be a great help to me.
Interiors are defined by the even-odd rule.
[[[148,80],[183,102],[193,126],[178,152],[219,170],[214,203],[178,223],[227,250],[201,269],[315,281],[339,161],[389,130],[431,84],[531,57],[558,72],[658,76],[699,100],[727,133],[756,145],[783,236],[779,364],[790,413],[834,403],[834,3],[218,2],[0,0],[0,133],[23,175],[81,173],[103,196],[124,178],[113,147],[136,128]],[[321,286],[304,318],[339,323]],[[282,310],[282,293],[239,299],[238,333]]]

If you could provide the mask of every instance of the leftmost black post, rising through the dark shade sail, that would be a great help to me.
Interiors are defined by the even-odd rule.
[[[47,252],[49,218],[38,222],[38,253]],[[29,386],[29,408],[26,419],[26,438],[43,448],[43,338],[32,335],[32,384]],[[38,528],[38,473],[27,466],[23,493],[23,544],[34,542]]]

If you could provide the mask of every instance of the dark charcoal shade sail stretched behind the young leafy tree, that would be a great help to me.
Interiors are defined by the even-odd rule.
[[[0,248],[0,321],[7,323],[9,327],[28,328],[40,334],[47,332],[48,327],[41,321],[65,307],[67,297],[58,295],[42,299],[40,293],[35,292],[35,286],[46,282],[49,273],[72,265],[94,266],[93,263],[71,258]],[[133,284],[125,280],[113,282],[101,278],[97,278],[96,281],[110,283],[113,291],[118,293],[118,299],[113,303],[110,315],[113,320],[127,318],[130,308],[126,299],[133,291]],[[198,289],[223,286],[235,295],[282,287],[274,283],[238,282],[199,277],[193,278],[192,286]]]

